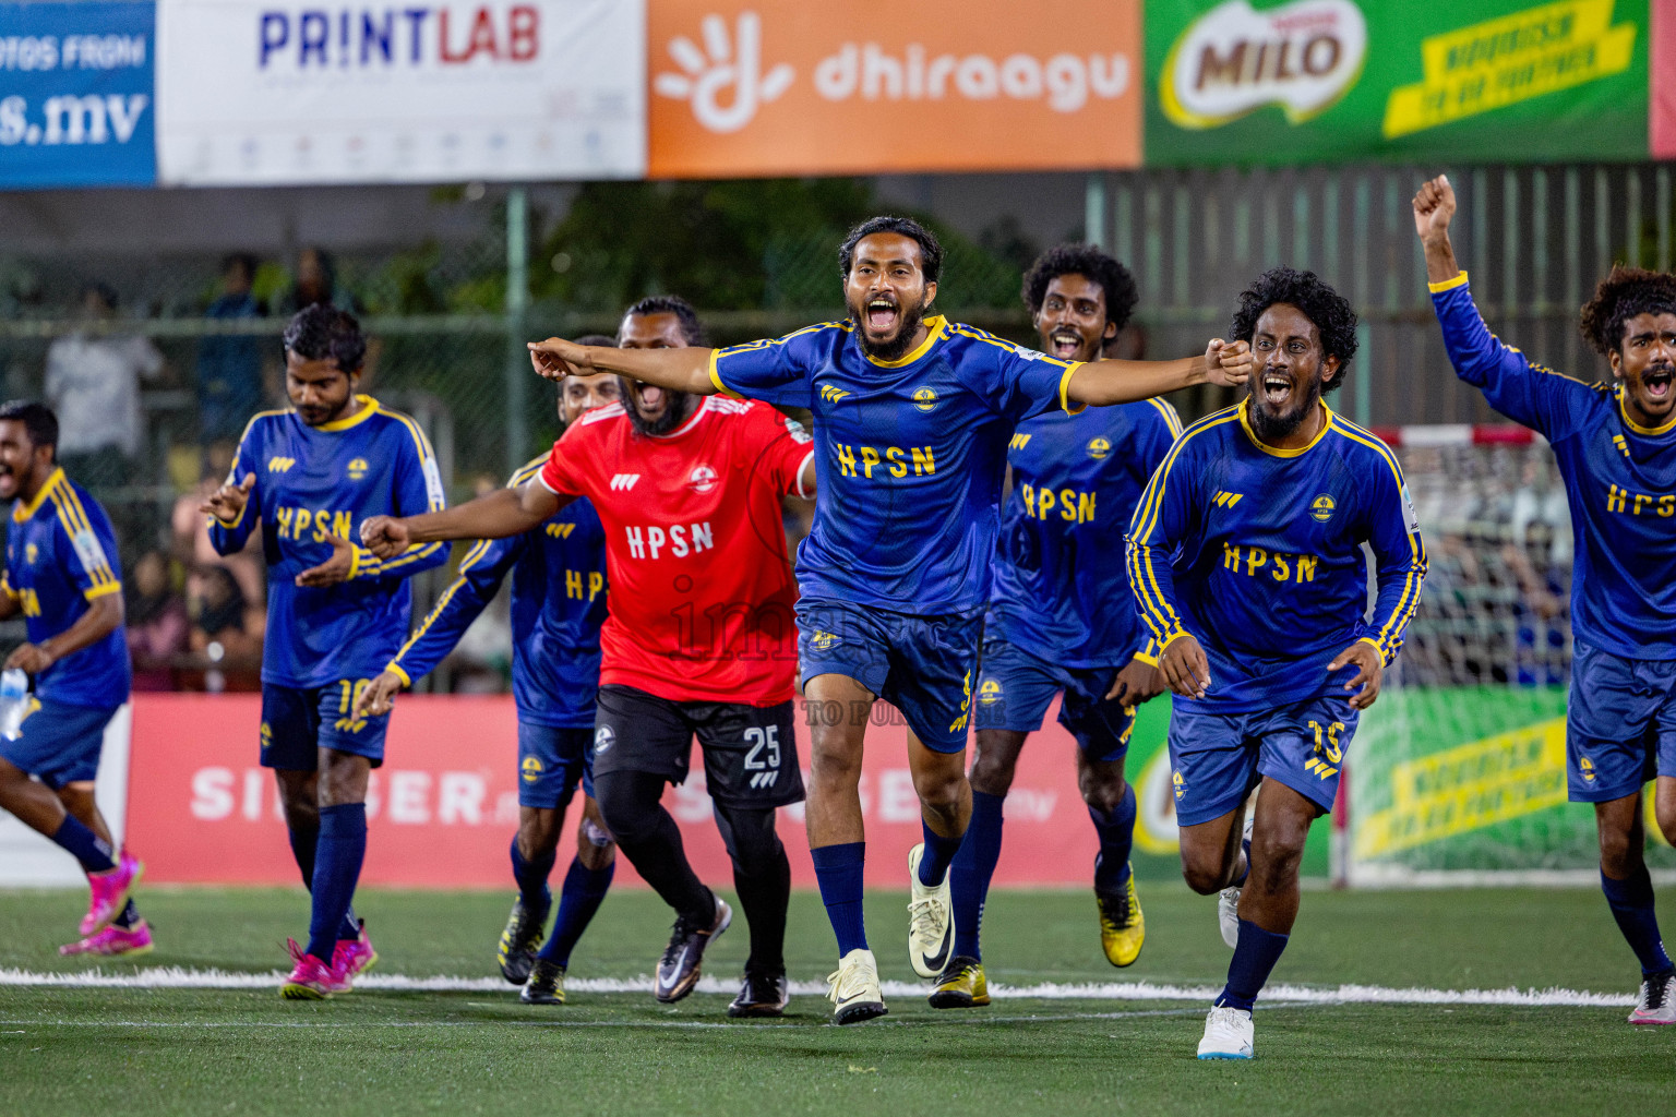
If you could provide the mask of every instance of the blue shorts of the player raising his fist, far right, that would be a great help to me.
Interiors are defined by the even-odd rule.
[[[1634,795],[1676,775],[1676,660],[1626,660],[1572,641],[1565,782],[1572,802]]]

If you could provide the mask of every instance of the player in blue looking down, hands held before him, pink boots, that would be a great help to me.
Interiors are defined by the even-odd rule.
[[[327,305],[285,327],[290,410],[261,412],[233,471],[203,506],[221,554],[260,524],[268,559],[261,651],[261,765],[273,769],[292,854],[313,894],[308,945],[290,943],[287,1000],[347,993],[377,955],[350,901],[367,851],[367,777],[384,764],[387,717],[354,703],[407,636],[407,578],[447,548],[377,558],[354,546],[359,521],[441,511],[442,477],[407,415],[357,395],[367,342],[354,317]]]

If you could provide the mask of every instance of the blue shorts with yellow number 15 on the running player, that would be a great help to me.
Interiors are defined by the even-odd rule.
[[[1170,710],[1177,826],[1220,819],[1264,775],[1331,811],[1359,717],[1349,698],[1332,695],[1255,713],[1215,713],[1178,698]]]

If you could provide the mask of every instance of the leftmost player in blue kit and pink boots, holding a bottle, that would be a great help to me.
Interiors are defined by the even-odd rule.
[[[116,852],[94,802],[104,728],[131,682],[122,583],[109,558],[116,536],[99,502],[64,476],[57,450],[50,407],[0,405],[0,499],[13,501],[0,620],[22,613],[28,628],[5,667],[35,677],[32,712],[15,737],[0,737],[0,807],[87,872],[82,938],[59,953],[144,955],[151,928],[131,899],[144,866],[127,849]]]

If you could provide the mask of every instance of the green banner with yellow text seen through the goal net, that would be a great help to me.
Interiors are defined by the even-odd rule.
[[[1601,862],[1594,807],[1567,802],[1562,687],[1386,690],[1353,760],[1356,883]],[[1651,794],[1646,812],[1648,861],[1676,866]]]

